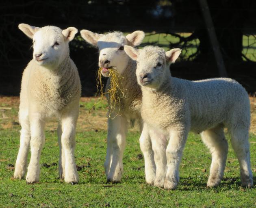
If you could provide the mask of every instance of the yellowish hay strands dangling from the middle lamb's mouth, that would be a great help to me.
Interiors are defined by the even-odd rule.
[[[113,113],[116,108],[118,108],[119,113],[121,107],[121,98],[124,98],[124,89],[122,89],[122,87],[120,86],[123,77],[113,67],[108,68],[108,77],[110,78],[110,85],[106,89],[106,92],[104,92],[101,71],[102,68],[99,68],[96,78],[98,96],[104,98],[105,94],[108,95],[108,117],[113,119],[114,117],[111,117],[111,113]]]

